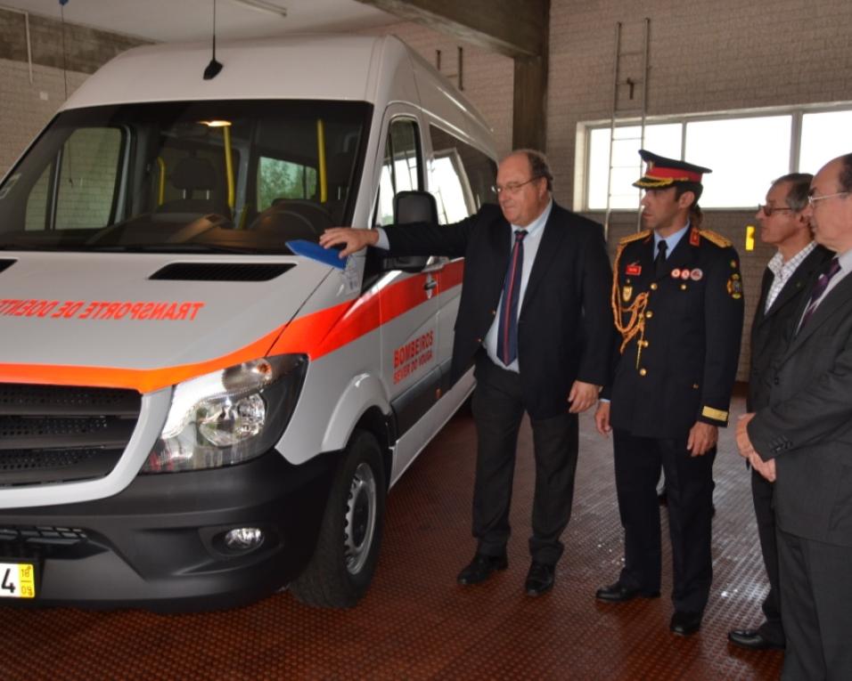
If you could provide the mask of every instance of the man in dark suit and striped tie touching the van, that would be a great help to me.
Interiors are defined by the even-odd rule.
[[[458,581],[478,584],[508,565],[512,474],[526,411],[536,459],[530,596],[553,587],[574,492],[578,413],[597,400],[612,337],[602,227],[553,203],[552,180],[542,154],[515,151],[497,171],[499,208],[483,206],[461,223],[395,225],[386,234],[338,228],[320,239],[326,247],[345,244],[341,255],[384,246],[392,255],[464,256],[452,374],[455,380],[475,364],[478,547]]]

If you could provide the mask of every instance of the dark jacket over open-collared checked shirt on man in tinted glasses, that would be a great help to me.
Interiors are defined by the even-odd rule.
[[[791,336],[791,320],[799,323],[795,316],[799,302],[814,272],[832,257],[832,252],[817,246],[799,263],[784,287],[775,297],[772,307],[764,312],[766,296],[772,287],[774,275],[767,267],[760,283],[760,300],[754,321],[751,323],[751,369],[749,375],[749,395],[746,407],[749,411],[763,409],[769,403],[770,365],[775,355],[782,352]]]

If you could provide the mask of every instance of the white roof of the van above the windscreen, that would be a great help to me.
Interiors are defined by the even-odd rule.
[[[61,109],[148,101],[317,99],[421,101],[433,119],[490,148],[490,127],[444,77],[396,36],[294,35],[217,43],[223,64],[204,80],[209,41],[146,45],[109,61]],[[416,82],[415,82],[416,81]],[[424,87],[424,85],[432,85]]]

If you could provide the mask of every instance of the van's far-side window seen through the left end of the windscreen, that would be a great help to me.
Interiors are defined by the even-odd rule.
[[[122,159],[119,128],[78,128],[33,185],[25,230],[94,230],[111,222]],[[53,213],[53,215],[51,215]]]

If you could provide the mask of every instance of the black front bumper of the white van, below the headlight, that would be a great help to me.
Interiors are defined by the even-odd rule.
[[[277,451],[239,466],[141,474],[109,499],[0,511],[0,563],[31,563],[36,597],[0,604],[195,611],[250,603],[307,564],[334,453],[292,466]],[[252,527],[236,552],[225,533]]]

